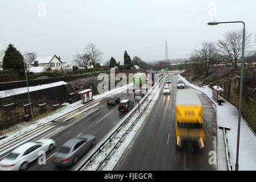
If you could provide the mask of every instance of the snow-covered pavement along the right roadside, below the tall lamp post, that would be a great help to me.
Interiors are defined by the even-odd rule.
[[[224,125],[230,127],[229,131],[226,131],[226,137],[228,139],[228,152],[229,161],[232,170],[236,166],[236,152],[237,152],[237,128],[238,128],[238,111],[236,107],[226,101],[222,105],[218,105],[212,99],[212,89],[209,86],[196,86],[185,80],[184,77],[177,75],[178,78],[184,80],[185,84],[191,86],[203,92],[216,106],[217,112],[217,127],[219,125]],[[254,133],[250,130],[249,126],[246,124],[245,120],[241,117],[241,128],[240,128],[240,150],[239,150],[239,170],[241,171],[255,171],[256,170],[256,137]],[[224,135],[221,129],[217,128],[217,163],[218,170],[226,170],[226,156],[224,147]]]

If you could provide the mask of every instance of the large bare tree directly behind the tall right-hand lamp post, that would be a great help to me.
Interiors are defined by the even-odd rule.
[[[249,47],[250,36],[250,34],[245,35],[245,48]],[[225,32],[224,39],[218,40],[217,46],[220,55],[237,67],[237,61],[242,54],[242,31]]]

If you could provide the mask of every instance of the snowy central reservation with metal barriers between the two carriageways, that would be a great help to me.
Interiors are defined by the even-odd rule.
[[[111,142],[107,142],[102,148],[101,152],[93,156],[91,159],[91,163],[85,164],[85,166],[81,169],[81,171],[95,171],[102,160],[104,160],[105,156],[112,151],[108,160],[106,160],[100,170],[102,171],[112,171],[116,164],[118,163],[119,159],[121,159],[123,153],[125,152],[126,148],[129,146],[130,142],[133,140],[135,134],[141,127],[144,119],[146,119],[148,113],[150,113],[151,108],[153,107],[156,99],[159,96],[159,93],[162,89],[164,77],[162,78],[162,82],[156,88],[154,88],[150,94],[148,94],[147,98],[144,102],[139,106],[139,110],[135,111],[131,117],[126,121],[125,125],[121,127],[118,133],[115,133],[112,137]],[[125,134],[125,137],[122,138],[122,142],[119,142],[119,139]],[[117,146],[115,146],[117,144]]]

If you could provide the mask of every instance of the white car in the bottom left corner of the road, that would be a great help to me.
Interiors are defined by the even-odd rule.
[[[42,155],[42,151],[51,151],[54,147],[53,139],[40,139],[36,142],[24,143],[1,160],[0,171],[24,170],[29,163]]]

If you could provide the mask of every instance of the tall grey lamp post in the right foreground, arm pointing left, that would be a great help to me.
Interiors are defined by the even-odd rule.
[[[239,114],[238,114],[238,127],[237,127],[237,157],[236,157],[236,171],[238,171],[238,155],[239,155],[239,142],[240,142],[240,125],[241,125],[241,109],[242,109],[242,90],[243,90],[243,61],[245,56],[245,23],[241,21],[236,22],[209,22],[208,25],[216,25],[220,23],[242,23],[243,24],[243,37],[242,37],[242,57],[241,57],[241,76],[240,76],[240,92],[239,92]]]

